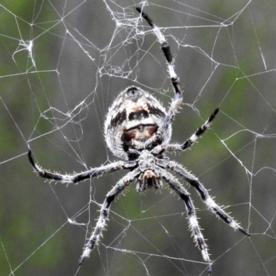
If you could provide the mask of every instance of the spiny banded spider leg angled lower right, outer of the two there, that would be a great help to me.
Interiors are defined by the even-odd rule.
[[[234,228],[235,230],[239,230],[246,236],[250,236],[250,234],[244,230],[239,224],[232,218],[230,215],[224,212],[224,210],[219,207],[215,201],[210,197],[208,191],[204,186],[199,182],[197,177],[191,175],[186,169],[182,168],[179,164],[174,161],[169,160],[161,160],[157,162],[159,166],[162,168],[170,168],[170,170],[176,172],[180,175],[185,181],[187,181],[191,186],[193,186],[197,192],[199,193],[202,201],[206,204],[209,210],[217,215],[217,217],[221,218],[226,224]]]

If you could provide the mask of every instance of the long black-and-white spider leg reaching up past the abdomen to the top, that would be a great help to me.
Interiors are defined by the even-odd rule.
[[[141,8],[137,7],[136,10],[141,14],[141,16],[148,22],[148,25],[152,28],[153,32],[157,36],[159,43],[161,44],[161,49],[164,52],[167,61],[168,73],[170,75],[170,79],[172,82],[172,86],[175,90],[175,96],[172,99],[172,103],[170,104],[170,109],[168,110],[168,114],[164,119],[163,124],[160,126],[157,134],[152,137],[152,139],[148,139],[146,143],[146,147],[158,140],[161,139],[161,134],[168,132],[170,129],[170,125],[172,124],[172,119],[175,117],[177,113],[177,109],[181,105],[182,102],[182,94],[180,90],[179,77],[177,77],[177,73],[175,72],[175,62],[172,57],[172,53],[170,52],[170,46],[166,41],[164,35],[160,32],[159,28],[155,26],[152,19],[146,14]]]

